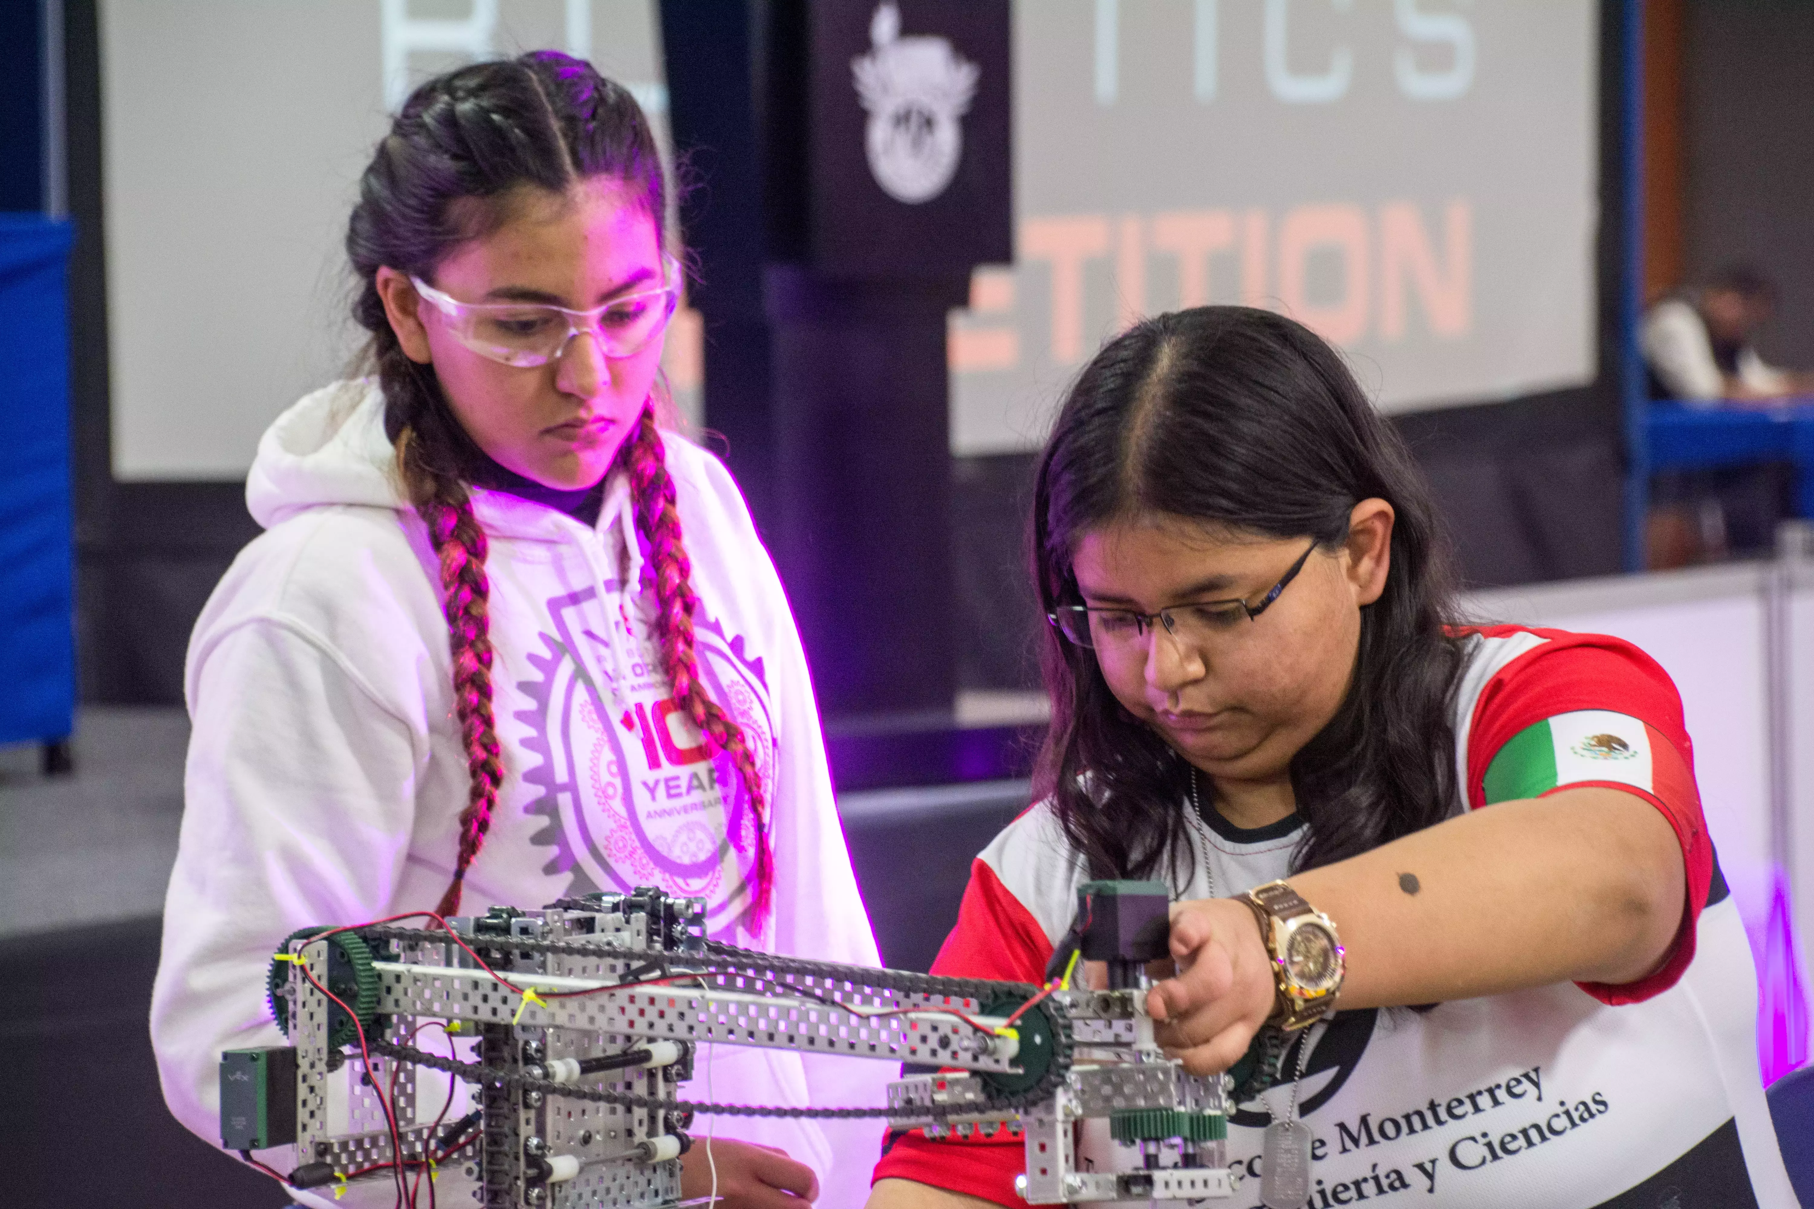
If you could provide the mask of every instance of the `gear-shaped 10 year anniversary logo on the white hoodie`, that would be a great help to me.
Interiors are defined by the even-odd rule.
[[[568,894],[660,886],[702,895],[707,928],[738,944],[749,930],[756,828],[749,794],[727,754],[711,756],[671,696],[655,647],[620,604],[584,589],[548,602],[553,634],[530,654],[539,680],[521,685],[532,707],[524,749],[541,758],[524,781],[541,790],[535,836],[555,848],[548,874],[570,874]],[[775,725],[760,658],[742,636],[695,620],[700,680],[744,729],[764,785],[775,779]]]

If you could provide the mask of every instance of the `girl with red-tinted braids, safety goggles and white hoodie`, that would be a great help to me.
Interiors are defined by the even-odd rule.
[[[299,926],[655,885],[718,939],[876,962],[773,564],[724,466],[662,431],[666,212],[640,109],[564,54],[430,80],[379,143],[346,232],[372,373],[265,435],[267,533],[189,649],[152,1037],[198,1135],[221,1049],[278,1044],[261,972]],[[889,1075],[707,1071],[771,1104],[878,1104]],[[726,1209],[865,1194],[862,1122],[729,1131]]]

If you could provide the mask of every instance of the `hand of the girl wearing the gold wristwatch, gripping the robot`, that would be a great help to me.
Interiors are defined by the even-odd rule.
[[[1226,1071],[1279,999],[1253,912],[1234,899],[1174,903],[1172,959],[1177,975],[1146,993],[1156,1037],[1192,1075]]]

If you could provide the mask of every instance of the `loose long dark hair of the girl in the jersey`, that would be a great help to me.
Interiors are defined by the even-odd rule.
[[[1039,457],[1032,556],[1045,611],[1079,602],[1072,551],[1097,526],[1181,517],[1335,547],[1370,497],[1397,511],[1391,573],[1360,611],[1346,700],[1292,759],[1308,825],[1297,870],[1429,827],[1455,798],[1449,556],[1409,450],[1310,330],[1197,306],[1105,346]],[[1116,701],[1088,649],[1048,627],[1043,663],[1052,727],[1036,790],[1092,875],[1150,877],[1166,863],[1183,883],[1190,765]]]

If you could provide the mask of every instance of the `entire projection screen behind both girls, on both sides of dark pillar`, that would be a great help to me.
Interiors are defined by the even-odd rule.
[[[412,82],[582,51],[666,138],[653,0],[100,16],[122,480],[241,479],[270,419],[348,370],[339,241]],[[1038,446],[1101,341],[1203,301],[1302,319],[1388,411],[1595,377],[1593,0],[1019,0],[1014,22],[1018,265],[952,315],[954,453]],[[686,408],[689,312],[668,363]]]

